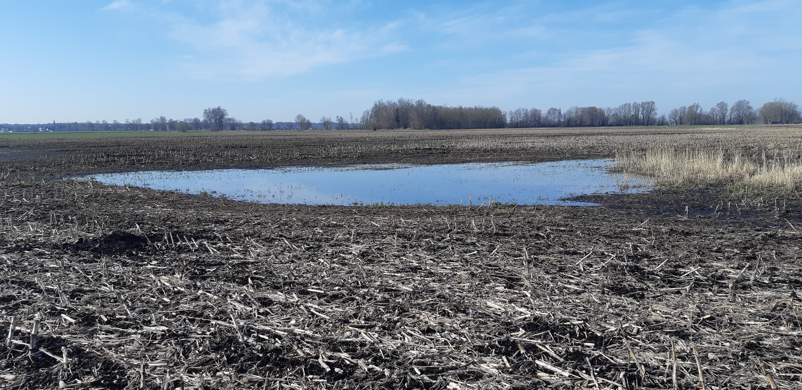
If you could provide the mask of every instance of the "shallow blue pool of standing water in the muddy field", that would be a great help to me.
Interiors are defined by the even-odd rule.
[[[341,168],[215,169],[92,175],[107,185],[136,185],[263,203],[306,205],[591,205],[563,198],[635,193],[645,177],[607,173],[612,160],[454,165],[354,165]],[[88,177],[83,177],[88,178]]]

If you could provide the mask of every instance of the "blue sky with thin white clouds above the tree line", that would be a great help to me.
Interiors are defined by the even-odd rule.
[[[0,2],[0,123],[802,103],[802,2]]]

